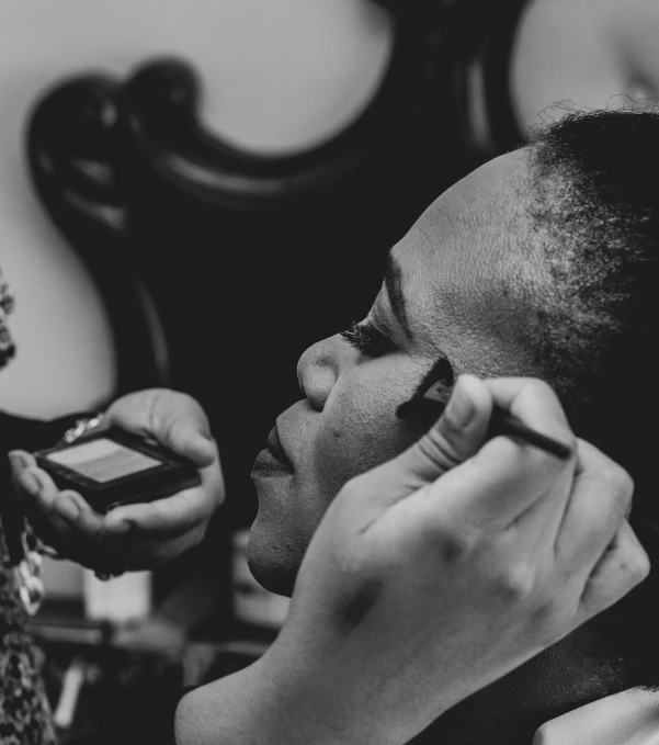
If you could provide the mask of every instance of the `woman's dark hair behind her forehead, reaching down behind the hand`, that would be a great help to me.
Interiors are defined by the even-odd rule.
[[[634,478],[630,522],[652,562],[591,628],[629,685],[658,688],[659,113],[572,112],[536,132],[529,151],[545,281],[525,341],[576,433]]]

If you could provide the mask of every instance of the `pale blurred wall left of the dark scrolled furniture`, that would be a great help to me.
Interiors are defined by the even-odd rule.
[[[359,114],[390,45],[389,18],[368,0],[1,0],[0,266],[18,296],[20,353],[0,375],[0,407],[49,417],[93,408],[114,388],[102,304],[27,180],[24,123],[45,87],[179,55],[202,75],[209,128],[291,151]]]

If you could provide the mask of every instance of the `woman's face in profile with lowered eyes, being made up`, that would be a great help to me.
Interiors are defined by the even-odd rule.
[[[297,375],[304,398],[276,420],[254,464],[259,512],[250,567],[261,584],[291,594],[325,510],[351,477],[401,452],[432,418],[398,407],[436,380],[438,359],[454,372],[530,374],[512,319],[524,226],[524,150],[481,167],[442,194],[389,256],[365,320],[314,345]],[[436,415],[435,415],[436,416]],[[279,450],[281,445],[282,450]],[[282,453],[283,451],[283,453]]]

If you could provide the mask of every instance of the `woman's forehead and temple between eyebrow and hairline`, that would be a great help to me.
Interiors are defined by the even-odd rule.
[[[511,320],[527,282],[520,246],[529,178],[526,150],[486,163],[438,197],[393,250],[412,330],[459,372],[520,370]]]

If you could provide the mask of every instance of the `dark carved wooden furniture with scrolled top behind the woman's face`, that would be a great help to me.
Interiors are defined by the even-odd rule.
[[[365,315],[386,252],[441,191],[520,142],[508,65],[523,0],[382,4],[396,38],[379,90],[343,132],[299,155],[255,155],[208,132],[202,82],[171,58],[126,79],[57,81],[29,117],[36,193],[114,328],[116,394],[185,390],[216,426],[238,495],[223,530],[253,518],[245,474],[299,397],[299,353]],[[487,147],[469,134],[476,64]]]

